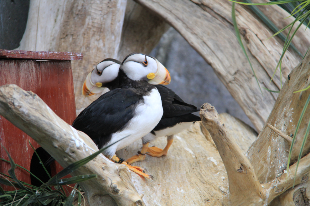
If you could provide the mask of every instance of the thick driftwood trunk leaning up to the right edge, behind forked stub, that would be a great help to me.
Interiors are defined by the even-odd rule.
[[[270,182],[276,176],[282,174],[283,170],[287,168],[287,150],[289,150],[290,146],[286,140],[272,131],[267,126],[267,123],[273,125],[276,129],[281,130],[288,136],[297,135],[291,163],[294,163],[299,155],[299,148],[301,148],[302,140],[307,129],[307,122],[310,118],[309,107],[303,117],[298,134],[294,133],[310,91],[293,92],[304,89],[309,85],[309,62],[310,53],[308,52],[303,61],[290,73],[290,78],[287,78],[283,85],[263,130],[246,154],[252,163],[261,163],[253,164],[257,173],[261,171],[260,175],[258,175],[261,183]],[[307,140],[303,155],[307,154],[309,150],[310,142]]]

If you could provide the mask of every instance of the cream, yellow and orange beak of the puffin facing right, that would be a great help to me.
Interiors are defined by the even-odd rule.
[[[164,85],[169,84],[171,81],[169,71],[157,59],[156,59],[156,63],[157,63],[156,74],[149,73],[147,75],[147,78],[150,79],[150,81],[148,81],[148,83],[150,83],[150,84],[164,84]]]

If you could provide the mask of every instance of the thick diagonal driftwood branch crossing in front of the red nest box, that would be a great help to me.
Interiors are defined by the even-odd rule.
[[[60,119],[39,96],[16,85],[0,87],[0,115],[36,140],[63,167],[98,151],[87,135]],[[92,206],[145,205],[125,165],[100,154],[73,172],[82,174],[97,174],[80,183]]]

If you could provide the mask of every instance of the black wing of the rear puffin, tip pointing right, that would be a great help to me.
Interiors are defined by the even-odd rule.
[[[163,104],[163,117],[175,117],[185,114],[190,114],[192,112],[200,111],[194,105],[184,102],[178,95],[174,93],[171,89],[163,85],[156,86]]]

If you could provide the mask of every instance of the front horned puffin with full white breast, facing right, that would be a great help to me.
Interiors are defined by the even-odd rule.
[[[154,85],[169,84],[170,74],[157,59],[139,53],[129,54],[117,70],[118,88],[93,101],[76,117],[72,127],[87,134],[99,149],[129,135],[103,152],[114,162],[127,165],[115,152],[147,135],[158,124],[163,106]],[[127,166],[150,178],[140,167]]]

